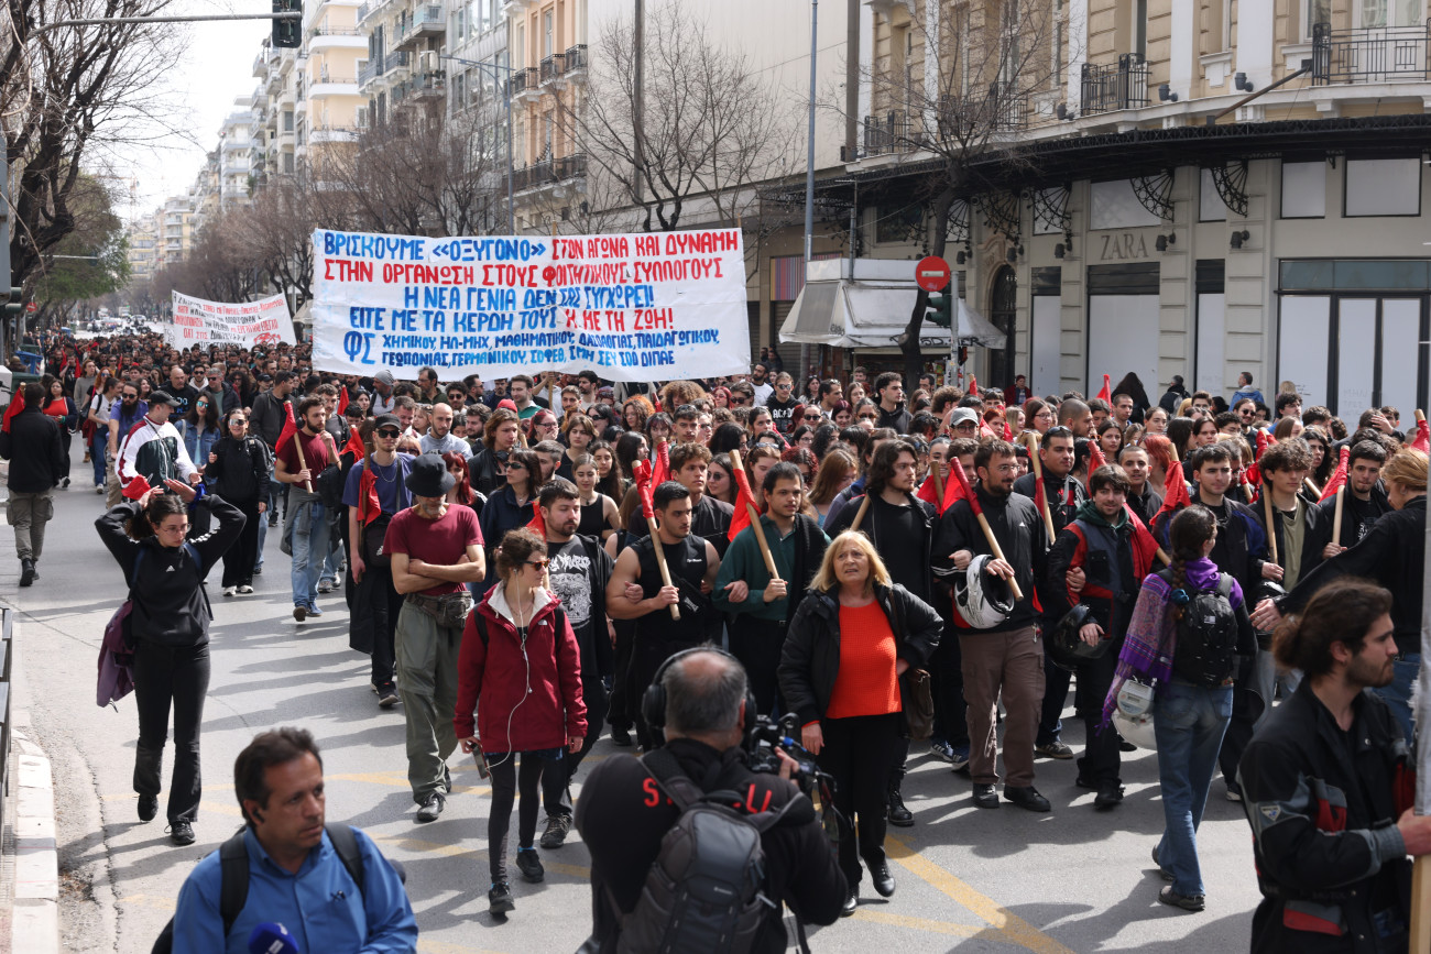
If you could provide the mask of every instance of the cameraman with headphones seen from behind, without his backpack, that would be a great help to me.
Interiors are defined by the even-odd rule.
[[[645,757],[674,757],[680,771],[703,791],[733,790],[746,795],[746,811],[777,811],[797,797],[780,777],[756,774],[740,748],[746,721],[746,671],[718,649],[693,649],[674,659],[661,679],[665,689],[667,745]],[[621,918],[635,908],[647,871],[680,811],[661,797],[644,759],[615,755],[591,772],[577,802],[577,830],[591,851],[591,941],[584,950],[614,951]],[[833,924],[844,900],[844,875],[836,864],[819,818],[793,811],[761,835],[766,894],[788,904],[806,924]],[[620,911],[614,910],[620,907]],[[753,951],[784,951],[787,944],[777,904],[766,915]]]

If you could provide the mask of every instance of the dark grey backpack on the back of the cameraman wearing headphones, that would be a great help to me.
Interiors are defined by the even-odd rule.
[[[761,835],[809,801],[797,795],[751,815],[731,808],[744,800],[734,791],[701,791],[665,749],[643,765],[681,815],[661,838],[635,907],[622,914],[611,897],[621,918],[617,951],[751,950],[767,914],[780,910],[780,900],[766,895]]]

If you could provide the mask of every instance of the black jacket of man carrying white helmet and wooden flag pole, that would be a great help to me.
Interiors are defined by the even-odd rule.
[[[996,498],[985,491],[983,483],[975,488],[979,495],[979,505],[983,508],[985,519],[993,531],[995,539],[1003,549],[1005,559],[1013,566],[1015,582],[1023,592],[1009,618],[993,629],[979,632],[1009,632],[1023,629],[1039,622],[1039,598],[1035,592],[1035,582],[1042,581],[1047,574],[1047,533],[1043,529],[1043,516],[1033,506],[1030,498],[1022,493],[1010,493],[1006,498]],[[975,556],[992,554],[989,541],[985,539],[979,521],[975,519],[969,501],[954,501],[953,506],[944,511],[939,519],[939,531],[934,533],[934,575],[950,578],[957,572],[950,555],[967,549]]]

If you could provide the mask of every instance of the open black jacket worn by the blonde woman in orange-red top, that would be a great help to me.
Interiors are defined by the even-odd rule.
[[[939,646],[944,621],[934,608],[899,584],[876,586],[874,598],[890,621],[897,655],[910,668],[923,667]],[[840,601],[811,591],[796,609],[780,657],[780,695],[801,725],[819,721],[830,707],[840,674]]]

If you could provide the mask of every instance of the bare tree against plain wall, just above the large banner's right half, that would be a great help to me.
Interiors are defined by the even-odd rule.
[[[713,46],[684,4],[653,13],[643,34],[625,20],[607,27],[587,94],[560,102],[590,177],[637,209],[645,232],[675,229],[693,210],[728,226],[756,216],[751,186],[793,164],[793,103],[744,54]]]

